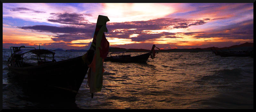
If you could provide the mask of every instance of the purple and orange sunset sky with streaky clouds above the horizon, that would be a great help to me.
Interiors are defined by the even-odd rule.
[[[253,43],[253,3],[3,3],[3,48],[88,49],[98,15],[110,20],[110,47]]]

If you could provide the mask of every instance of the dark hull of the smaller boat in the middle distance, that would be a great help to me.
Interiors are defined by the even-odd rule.
[[[120,59],[115,59],[112,57],[107,57],[104,61],[111,61],[111,62],[121,62],[121,63],[146,63],[150,56],[150,53],[141,54],[138,56],[132,57],[125,57]]]

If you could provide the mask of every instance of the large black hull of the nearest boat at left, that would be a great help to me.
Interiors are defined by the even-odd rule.
[[[72,100],[75,99],[88,70],[82,56],[38,66],[8,67],[24,89]]]

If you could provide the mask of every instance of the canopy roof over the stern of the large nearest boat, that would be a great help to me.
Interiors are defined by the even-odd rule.
[[[21,54],[25,54],[25,53],[28,53],[28,52],[34,53],[34,54],[36,54],[36,55],[41,55],[41,54],[52,54],[52,55],[54,55],[54,54],[55,54],[55,53],[52,52],[52,51],[44,50],[44,49],[17,51],[17,52],[15,52],[14,54],[21,55]]]

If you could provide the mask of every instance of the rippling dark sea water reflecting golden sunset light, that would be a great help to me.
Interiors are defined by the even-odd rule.
[[[85,52],[55,53],[55,60],[60,61]],[[143,53],[131,53],[140,54]],[[104,62],[105,88],[91,98],[86,75],[75,102],[31,99],[10,77],[9,57],[10,50],[3,49],[3,109],[253,109],[251,57],[160,52],[147,63]],[[28,56],[27,60],[37,59]]]

